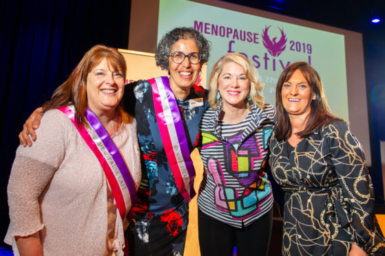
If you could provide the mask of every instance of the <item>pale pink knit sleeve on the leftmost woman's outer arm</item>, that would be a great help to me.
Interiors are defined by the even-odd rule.
[[[57,114],[56,114],[57,115]],[[8,183],[10,235],[30,235],[43,228],[39,196],[59,168],[65,154],[61,123],[48,111],[32,147],[19,146]]]

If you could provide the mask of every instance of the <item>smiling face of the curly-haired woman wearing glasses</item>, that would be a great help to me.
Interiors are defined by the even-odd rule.
[[[172,45],[171,52],[183,52],[188,55],[191,52],[199,52],[194,39],[179,39]],[[169,56],[170,87],[175,92],[180,90],[188,91],[196,82],[202,65],[191,64],[189,58],[185,58],[182,63],[174,63]]]

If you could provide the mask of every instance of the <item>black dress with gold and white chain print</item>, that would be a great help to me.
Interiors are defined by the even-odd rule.
[[[273,134],[270,150],[285,191],[282,255],[348,255],[352,242],[385,255],[364,153],[346,122],[324,125],[294,148]]]

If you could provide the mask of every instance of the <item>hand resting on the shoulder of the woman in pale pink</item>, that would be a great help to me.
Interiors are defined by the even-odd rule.
[[[23,131],[19,134],[20,144],[26,147],[32,146],[32,140],[36,140],[35,129],[39,128],[41,118],[43,117],[43,108],[39,107],[33,111],[30,117],[25,121],[23,125]],[[30,137],[31,136],[31,137]],[[32,140],[31,140],[32,138]]]

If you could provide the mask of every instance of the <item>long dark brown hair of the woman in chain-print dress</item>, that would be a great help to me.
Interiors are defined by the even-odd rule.
[[[275,129],[275,138],[282,140],[291,136],[291,122],[289,114],[284,109],[282,103],[282,86],[289,81],[296,70],[300,70],[306,82],[311,89],[311,95],[315,95],[315,99],[311,100],[311,111],[306,120],[306,127],[303,131],[298,132],[298,136],[306,138],[313,134],[320,126],[333,122],[333,120],[342,120],[331,113],[328,103],[324,95],[324,88],[320,75],[306,62],[296,62],[287,67],[280,78],[278,78],[277,87],[275,88],[275,110],[277,114],[278,126]]]

